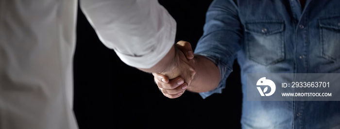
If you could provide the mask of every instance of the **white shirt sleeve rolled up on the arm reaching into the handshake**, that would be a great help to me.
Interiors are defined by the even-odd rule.
[[[176,21],[157,0],[81,0],[102,43],[125,64],[151,68],[174,44]]]

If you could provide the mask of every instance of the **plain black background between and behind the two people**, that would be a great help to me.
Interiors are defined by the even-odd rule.
[[[193,49],[203,34],[212,0],[159,0],[177,22],[176,42]],[[240,128],[241,84],[238,64],[222,94],[164,97],[153,75],[120,61],[106,48],[78,9],[74,55],[74,112],[80,129]]]

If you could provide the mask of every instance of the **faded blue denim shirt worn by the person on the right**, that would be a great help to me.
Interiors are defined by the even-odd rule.
[[[299,0],[215,0],[195,54],[221,71],[203,98],[233,86],[225,81],[238,60],[243,129],[340,129],[339,101],[246,100],[247,73],[340,73],[340,0],[307,0],[304,9]]]

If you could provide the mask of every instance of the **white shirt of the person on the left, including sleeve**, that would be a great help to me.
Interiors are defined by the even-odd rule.
[[[81,0],[102,43],[150,68],[174,44],[157,0]],[[77,129],[72,60],[77,0],[0,0],[0,129]]]

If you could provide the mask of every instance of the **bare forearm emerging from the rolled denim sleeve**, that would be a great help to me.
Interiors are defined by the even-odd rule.
[[[221,81],[219,68],[201,55],[195,55],[193,60],[196,75],[187,90],[202,93],[215,89]]]

